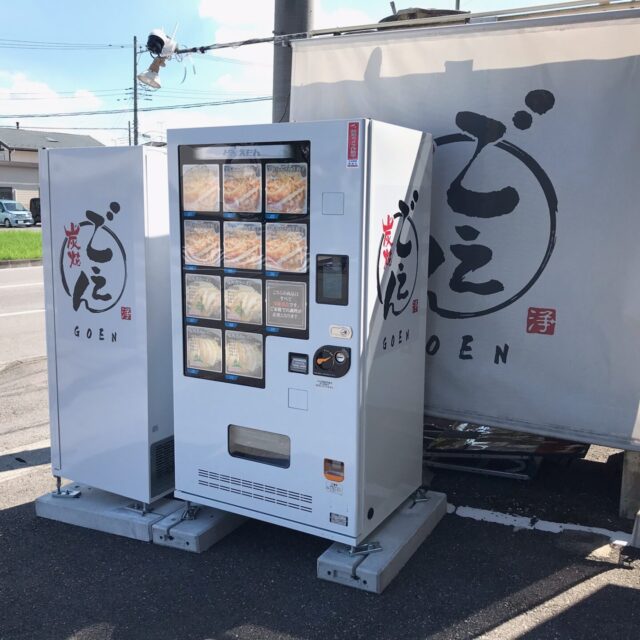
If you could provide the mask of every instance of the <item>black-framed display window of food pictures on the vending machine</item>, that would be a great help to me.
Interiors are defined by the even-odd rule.
[[[309,338],[310,143],[178,155],[184,374],[264,387],[267,338]]]

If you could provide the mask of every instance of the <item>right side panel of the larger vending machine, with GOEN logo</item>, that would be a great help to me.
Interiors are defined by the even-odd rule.
[[[431,215],[431,136],[374,121],[371,140],[364,534],[422,483]]]

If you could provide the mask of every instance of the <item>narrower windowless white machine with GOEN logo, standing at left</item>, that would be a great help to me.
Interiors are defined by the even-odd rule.
[[[173,489],[166,153],[40,152],[54,476],[142,503]]]

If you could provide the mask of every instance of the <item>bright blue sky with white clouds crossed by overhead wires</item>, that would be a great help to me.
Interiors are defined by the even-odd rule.
[[[462,0],[461,8],[486,11],[546,4],[548,0]],[[401,9],[406,5],[396,0]],[[453,8],[455,0],[424,6]],[[314,26],[377,22],[389,15],[387,0],[315,0]],[[30,118],[34,113],[68,113],[131,108],[133,36],[144,44],[162,27],[183,46],[200,46],[270,35],[273,0],[20,0],[4,2],[0,34],[0,126],[79,127],[108,144],[127,143],[131,113]],[[8,25],[11,25],[9,28]],[[21,41],[8,43],[7,40]],[[113,44],[108,50],[24,48],[25,41]],[[10,45],[10,46],[9,46]],[[118,48],[125,45],[126,48]],[[163,88],[141,96],[140,106],[168,106],[266,96],[271,93],[271,45],[193,55],[162,70]],[[151,62],[140,56],[140,70]],[[195,73],[194,73],[195,71]],[[6,115],[20,117],[6,118]],[[225,105],[140,114],[141,132],[162,138],[167,127],[269,122],[271,103]],[[91,129],[104,127],[105,129]],[[110,129],[106,129],[109,127]],[[83,130],[82,128],[86,128]],[[148,139],[148,138],[145,138]]]

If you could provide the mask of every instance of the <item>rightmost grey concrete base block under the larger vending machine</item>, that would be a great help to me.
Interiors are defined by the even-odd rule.
[[[444,493],[408,499],[358,547],[334,542],[318,558],[318,578],[382,593],[446,512]]]

